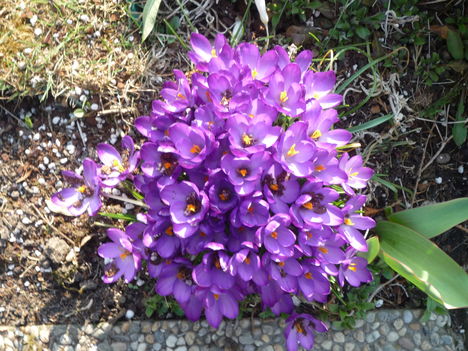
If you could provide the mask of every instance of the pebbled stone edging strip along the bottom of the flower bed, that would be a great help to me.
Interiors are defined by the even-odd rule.
[[[314,350],[464,350],[448,316],[419,322],[419,310],[369,312],[354,330],[318,335]],[[0,350],[51,351],[282,351],[283,320],[225,321],[218,330],[206,321],[125,321],[114,325],[0,327]]]

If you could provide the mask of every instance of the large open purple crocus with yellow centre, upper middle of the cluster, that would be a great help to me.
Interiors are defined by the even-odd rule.
[[[273,146],[281,133],[280,127],[272,127],[268,120],[249,120],[234,115],[227,121],[230,148],[234,156],[242,157],[264,151]]]

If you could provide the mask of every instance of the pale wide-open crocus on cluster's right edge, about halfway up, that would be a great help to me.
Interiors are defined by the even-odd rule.
[[[354,195],[354,189],[364,189],[367,181],[372,178],[374,171],[368,167],[362,167],[361,155],[349,158],[348,153],[344,153],[340,159],[340,168],[348,175],[348,181],[342,184],[344,191],[349,195]]]

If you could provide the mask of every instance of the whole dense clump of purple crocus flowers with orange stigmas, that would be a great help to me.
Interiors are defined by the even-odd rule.
[[[122,153],[97,147],[83,177],[52,200],[72,214],[96,214],[104,189],[131,181],[147,208],[125,230],[109,229],[100,246],[105,282],[130,282],[142,269],[155,290],[173,296],[190,320],[213,327],[236,318],[239,302],[258,294],[275,314],[293,313],[292,296],[326,303],[330,282],[372,279],[363,231],[374,221],[360,209],[373,171],[341,150],[351,139],[334,109],[335,74],[309,69],[310,51],[293,62],[280,46],[260,53],[222,35],[191,36],[194,70],[175,71],[161,99],[126,136]],[[138,149],[138,151],[137,151]],[[326,326],[292,314],[288,350],[313,346]]]

